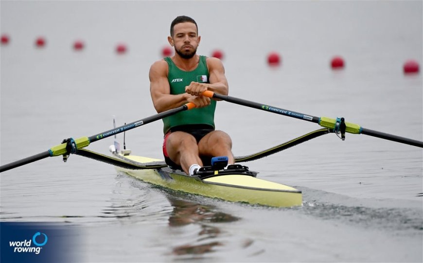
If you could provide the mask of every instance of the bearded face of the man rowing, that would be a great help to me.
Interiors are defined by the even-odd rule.
[[[197,52],[200,37],[194,23],[184,22],[174,26],[174,34],[168,37],[169,43],[175,46],[175,52],[182,58],[191,58]]]

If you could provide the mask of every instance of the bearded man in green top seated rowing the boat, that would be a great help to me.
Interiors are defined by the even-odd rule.
[[[204,91],[227,95],[228,81],[218,58],[196,55],[201,37],[194,19],[179,16],[170,26],[169,43],[175,56],[156,61],[150,68],[150,93],[158,113],[193,102],[196,108],[163,118],[163,154],[170,167],[190,175],[213,156],[228,156],[233,164],[232,141],[214,130],[216,101]]]

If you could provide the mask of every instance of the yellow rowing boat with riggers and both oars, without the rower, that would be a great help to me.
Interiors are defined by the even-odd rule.
[[[385,140],[403,143],[423,148],[423,142],[405,138],[381,131],[374,131],[361,127],[358,124],[346,122],[344,118],[317,117],[309,114],[297,113],[281,108],[268,106],[245,99],[215,94],[205,91],[203,96],[247,106],[265,112],[276,113],[308,122],[313,122],[324,129],[309,132],[298,138],[282,143],[275,147],[245,156],[235,156],[235,163],[253,161],[270,154],[285,150],[302,142],[316,138],[323,134],[335,133],[345,140],[345,133],[365,134]],[[160,120],[164,117],[195,108],[193,103],[187,103],[175,109],[161,112],[144,119],[113,128],[112,130],[94,134],[90,137],[77,139],[68,138],[61,144],[53,146],[49,150],[40,152],[21,160],[1,165],[0,172],[14,169],[41,159],[53,156],[63,156],[66,162],[70,154],[78,154],[97,161],[112,164],[119,172],[128,174],[142,181],[162,187],[184,191],[192,194],[200,194],[213,198],[220,198],[232,202],[245,202],[273,207],[300,206],[302,202],[301,191],[279,183],[269,182],[256,177],[257,172],[249,171],[247,167],[240,165],[229,166],[228,169],[202,168],[198,176],[188,176],[181,170],[170,169],[158,159],[135,156],[127,152],[114,152],[113,156],[97,153],[85,149],[90,143],[105,139],[121,132],[141,127],[145,124]],[[340,136],[339,136],[340,134]]]

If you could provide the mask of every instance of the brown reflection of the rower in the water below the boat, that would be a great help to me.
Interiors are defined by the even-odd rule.
[[[212,206],[182,200],[171,195],[168,195],[167,198],[174,207],[169,217],[169,225],[171,227],[199,224],[201,229],[198,232],[198,238],[194,244],[173,247],[173,254],[175,255],[200,255],[213,252],[215,246],[221,246],[223,244],[219,241],[210,241],[207,243],[203,243],[203,241],[209,239],[215,240],[222,231],[216,225],[209,225],[207,223],[228,223],[239,220],[239,218],[230,214],[215,211],[215,208]]]

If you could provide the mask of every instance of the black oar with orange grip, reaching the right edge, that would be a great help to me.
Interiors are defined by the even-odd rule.
[[[343,138],[345,138],[344,137],[345,134],[343,133],[344,129],[345,129],[345,132],[349,132],[349,133],[366,134],[366,135],[373,136],[373,137],[378,137],[378,138],[382,138],[382,139],[386,139],[386,140],[390,140],[390,141],[394,141],[394,142],[404,143],[404,144],[423,148],[423,142],[422,141],[413,140],[413,139],[409,139],[409,138],[405,138],[405,137],[400,137],[400,136],[397,136],[397,135],[392,135],[392,134],[388,134],[388,133],[381,132],[381,131],[373,131],[373,130],[370,130],[370,129],[366,129],[366,128],[361,127],[358,124],[345,122],[343,118],[332,119],[332,118],[328,118],[328,117],[316,117],[316,116],[312,116],[312,115],[308,115],[308,114],[297,113],[297,112],[293,112],[293,111],[280,109],[280,108],[269,106],[269,105],[266,105],[266,104],[248,101],[248,100],[245,100],[245,99],[240,99],[240,98],[231,97],[231,96],[227,96],[227,95],[216,94],[216,93],[213,93],[212,91],[205,91],[203,93],[203,95],[210,97],[210,98],[225,100],[225,101],[228,101],[228,102],[247,106],[247,107],[250,107],[250,108],[263,110],[263,111],[266,111],[266,112],[277,113],[277,114],[281,114],[281,115],[284,115],[284,116],[293,117],[293,118],[296,118],[296,119],[314,122],[314,123],[317,123],[318,125],[320,125],[322,127],[332,129],[335,132],[341,131]]]

